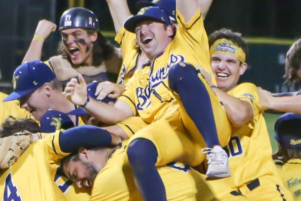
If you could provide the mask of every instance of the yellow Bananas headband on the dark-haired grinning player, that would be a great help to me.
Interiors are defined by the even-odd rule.
[[[243,49],[228,39],[218,39],[213,43],[210,55],[218,53],[232,55],[243,63],[246,61],[246,53],[243,52]]]

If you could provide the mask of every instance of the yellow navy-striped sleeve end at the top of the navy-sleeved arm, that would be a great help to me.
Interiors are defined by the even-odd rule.
[[[57,130],[54,134],[49,135],[44,141],[45,156],[49,161],[57,162],[58,159],[62,159],[68,156],[70,153],[62,152],[59,144],[59,136],[62,130]]]

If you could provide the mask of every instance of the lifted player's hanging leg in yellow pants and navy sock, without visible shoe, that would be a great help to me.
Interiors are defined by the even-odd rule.
[[[196,165],[204,158],[200,147],[195,148],[191,139],[175,131],[181,125],[184,128],[181,119],[178,119],[179,123],[174,124],[176,126],[171,126],[165,119],[154,122],[129,140],[127,156],[137,181],[137,188],[147,201],[166,200],[164,183],[156,166],[174,160]]]

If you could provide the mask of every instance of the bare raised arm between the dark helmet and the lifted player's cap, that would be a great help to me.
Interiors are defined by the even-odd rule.
[[[124,22],[131,16],[126,0],[107,0],[111,16],[113,18],[115,31],[118,33]]]

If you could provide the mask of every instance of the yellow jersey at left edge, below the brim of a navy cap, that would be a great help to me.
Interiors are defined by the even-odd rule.
[[[2,105],[1,106],[2,114],[0,115],[0,125],[2,124],[4,119],[9,115],[17,118],[26,118],[26,116],[29,114],[28,111],[20,108],[20,103],[18,100],[2,102],[3,99],[5,99],[7,96],[8,96],[7,94],[0,92],[0,102]]]

